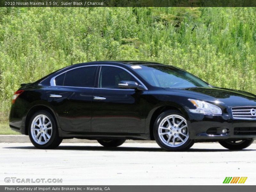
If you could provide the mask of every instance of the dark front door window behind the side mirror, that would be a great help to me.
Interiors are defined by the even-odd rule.
[[[99,88],[118,89],[118,83],[120,81],[137,82],[137,80],[124,69],[110,66],[101,67]]]

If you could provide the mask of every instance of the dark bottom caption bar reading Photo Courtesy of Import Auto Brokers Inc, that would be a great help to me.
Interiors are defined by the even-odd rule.
[[[181,179],[182,182],[182,179]],[[136,185],[11,185],[0,186],[1,192],[253,192],[255,186],[252,185],[221,185],[221,186],[189,186],[189,185],[173,185],[173,186],[136,186]]]

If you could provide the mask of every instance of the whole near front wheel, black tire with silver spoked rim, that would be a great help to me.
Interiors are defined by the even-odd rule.
[[[154,124],[156,143],[168,151],[188,150],[194,144],[189,139],[188,124],[185,116],[176,110],[160,114]]]

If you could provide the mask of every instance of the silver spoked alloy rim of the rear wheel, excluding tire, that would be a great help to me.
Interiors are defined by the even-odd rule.
[[[52,122],[46,115],[36,116],[31,123],[31,136],[40,145],[47,143],[52,136]]]

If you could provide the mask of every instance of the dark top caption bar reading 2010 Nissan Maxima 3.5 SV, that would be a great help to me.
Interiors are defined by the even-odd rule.
[[[255,0],[0,0],[0,7],[256,7]]]

